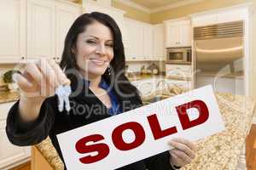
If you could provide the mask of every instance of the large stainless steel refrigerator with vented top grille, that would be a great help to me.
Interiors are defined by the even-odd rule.
[[[194,28],[194,85],[245,94],[243,21]]]

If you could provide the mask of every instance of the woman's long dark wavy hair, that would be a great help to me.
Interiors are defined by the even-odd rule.
[[[115,91],[121,91],[123,94],[135,94],[138,96],[137,88],[134,87],[131,82],[125,77],[125,51],[122,42],[122,34],[119,26],[108,14],[102,14],[99,12],[86,13],[79,16],[77,20],[73,22],[67,32],[67,37],[65,39],[64,50],[61,58],[61,68],[62,69],[77,69],[79,66],[76,64],[75,54],[73,54],[72,48],[75,47],[79,33],[86,30],[86,26],[89,26],[93,22],[100,22],[104,26],[112,31],[113,34],[113,59],[110,62],[113,68],[113,75],[109,76],[108,71],[102,75],[104,80],[108,83],[113,83],[113,88]],[[116,77],[118,75],[118,77]],[[112,78],[111,78],[112,77]],[[114,80],[114,82],[112,82]],[[122,83],[120,83],[122,82]],[[119,89],[117,89],[119,88]],[[118,93],[117,93],[118,94]],[[118,94],[119,95],[119,94]]]

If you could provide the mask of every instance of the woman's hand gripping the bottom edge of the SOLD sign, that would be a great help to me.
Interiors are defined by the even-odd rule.
[[[174,148],[169,150],[170,163],[176,167],[183,167],[195,158],[195,144],[187,139],[172,139],[169,144]]]

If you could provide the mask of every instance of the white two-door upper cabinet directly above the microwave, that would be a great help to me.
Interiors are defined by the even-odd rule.
[[[191,25],[190,20],[166,20],[166,48],[190,47]]]

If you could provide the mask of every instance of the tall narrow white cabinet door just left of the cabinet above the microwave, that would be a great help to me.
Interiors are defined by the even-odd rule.
[[[166,48],[165,48],[165,27],[163,24],[154,25],[154,60],[166,60]]]

